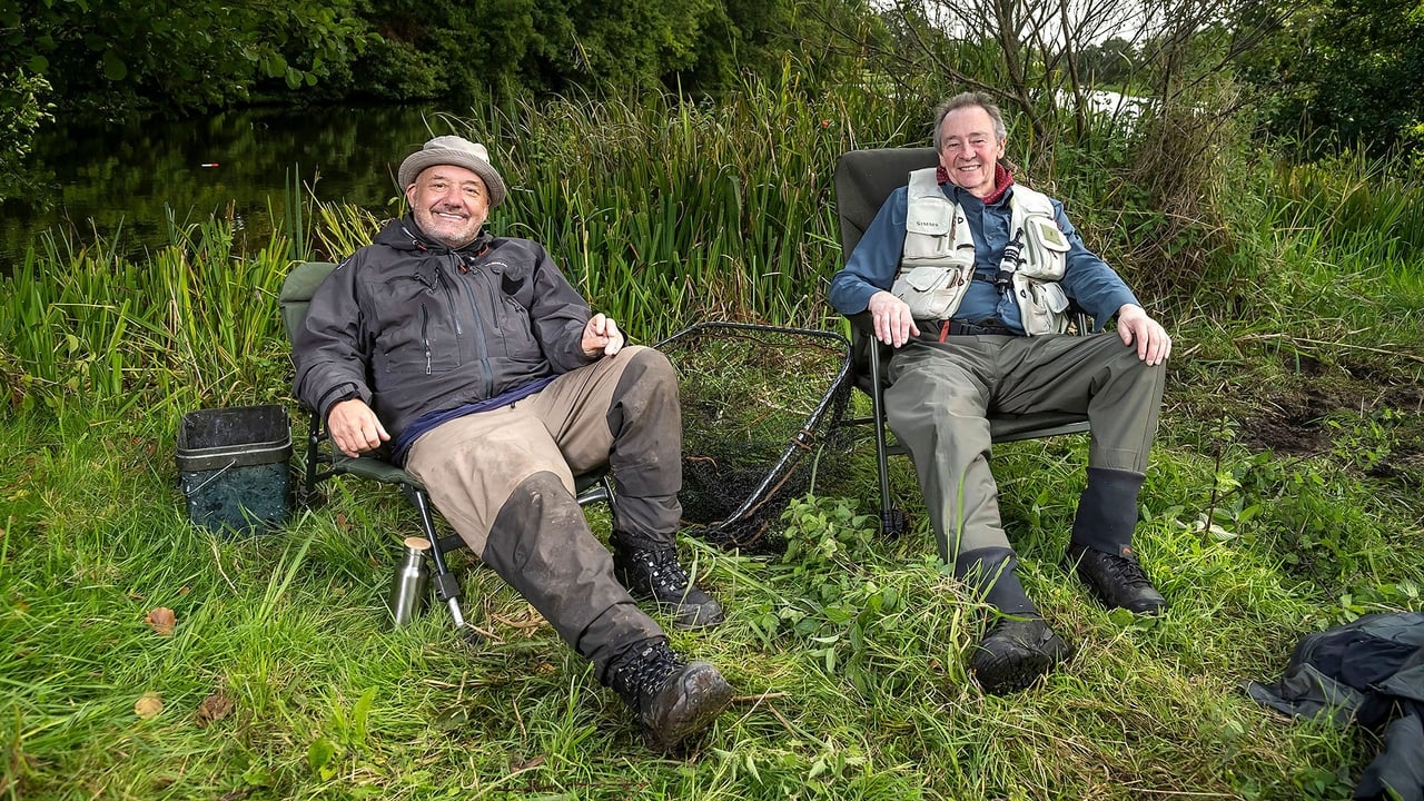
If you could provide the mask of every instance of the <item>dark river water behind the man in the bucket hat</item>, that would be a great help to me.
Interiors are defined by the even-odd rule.
[[[283,187],[300,177],[322,201],[396,212],[400,160],[451,121],[424,107],[249,108],[184,121],[95,125],[60,120],[26,164],[31,191],[0,201],[0,275],[43,232],[141,255],[178,225],[226,215],[261,247]]]

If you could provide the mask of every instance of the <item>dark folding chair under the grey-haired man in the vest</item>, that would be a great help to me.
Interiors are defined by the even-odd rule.
[[[933,147],[853,150],[836,160],[836,212],[840,215],[840,252],[849,259],[860,244],[860,237],[874,221],[890,192],[909,182],[910,172],[938,164]],[[1088,334],[1088,319],[1078,312],[1075,328]],[[889,458],[907,453],[903,443],[890,442],[886,429],[884,375],[891,348],[876,341],[869,312],[850,316],[853,349],[853,381],[870,396],[870,418],[850,418],[843,425],[873,425],[876,459],[880,477],[880,526],[890,534],[906,529],[904,512],[894,507],[890,497]],[[991,415],[988,418],[993,442],[1040,439],[1088,430],[1085,415],[1040,412],[1034,415]]]

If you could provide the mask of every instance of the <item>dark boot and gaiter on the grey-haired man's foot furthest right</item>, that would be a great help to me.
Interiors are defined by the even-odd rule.
[[[1166,599],[1132,553],[1142,479],[1128,470],[1088,467],[1064,567],[1075,570],[1108,609],[1162,614]]]

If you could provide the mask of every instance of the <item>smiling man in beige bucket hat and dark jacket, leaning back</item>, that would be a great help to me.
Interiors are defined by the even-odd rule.
[[[295,389],[347,455],[389,449],[470,549],[537,609],[671,748],[731,686],[674,626],[722,621],[678,562],[676,373],[592,314],[535,242],[484,231],[507,195],[484,145],[436,137],[399,170],[410,214],[322,284],[295,336]],[[612,554],[574,476],[614,476]]]

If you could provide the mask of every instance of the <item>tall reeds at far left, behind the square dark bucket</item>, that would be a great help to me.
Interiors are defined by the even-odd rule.
[[[104,241],[41,238],[0,282],[10,405],[58,413],[117,399],[120,410],[164,413],[279,392],[275,299],[286,249],[278,234],[235,254],[231,225],[216,217],[174,227],[142,261]]]

